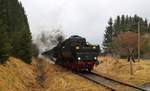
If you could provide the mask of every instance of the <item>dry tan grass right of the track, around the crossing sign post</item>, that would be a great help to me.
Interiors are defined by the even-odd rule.
[[[99,60],[102,64],[95,68],[97,73],[139,86],[150,82],[150,60],[133,63],[133,75],[130,75],[130,63],[125,59],[99,57]]]

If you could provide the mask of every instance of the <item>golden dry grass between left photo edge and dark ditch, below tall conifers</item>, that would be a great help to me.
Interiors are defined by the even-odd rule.
[[[29,91],[35,87],[35,75],[32,65],[10,58],[0,65],[0,91]]]

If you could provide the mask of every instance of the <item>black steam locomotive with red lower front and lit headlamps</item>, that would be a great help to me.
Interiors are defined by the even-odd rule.
[[[42,55],[49,56],[56,64],[71,70],[91,71],[98,64],[99,50],[98,45],[91,45],[85,38],[74,35]]]

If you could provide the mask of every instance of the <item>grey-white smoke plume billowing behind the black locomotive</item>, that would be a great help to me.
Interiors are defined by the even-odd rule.
[[[39,33],[35,39],[35,44],[39,48],[39,53],[43,53],[55,47],[59,42],[65,39],[65,34],[60,29],[51,31],[44,30]]]

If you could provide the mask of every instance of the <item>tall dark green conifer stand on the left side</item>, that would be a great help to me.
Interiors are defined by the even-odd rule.
[[[22,4],[18,0],[0,0],[0,63],[14,56],[30,64],[32,45],[28,19]]]

